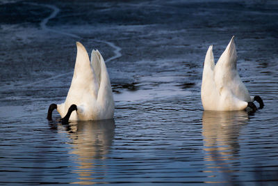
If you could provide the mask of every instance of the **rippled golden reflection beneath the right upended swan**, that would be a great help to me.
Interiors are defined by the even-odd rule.
[[[240,130],[248,121],[246,111],[204,111],[202,134],[206,172],[233,172],[232,160],[237,160]]]

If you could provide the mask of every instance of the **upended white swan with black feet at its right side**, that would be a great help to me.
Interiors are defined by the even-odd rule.
[[[214,63],[213,46],[208,47],[204,60],[201,97],[204,110],[234,111],[250,107],[256,111],[254,100],[263,108],[263,100],[256,95],[251,97],[247,88],[240,80],[236,70],[236,45],[234,36],[220,56],[218,63]]]

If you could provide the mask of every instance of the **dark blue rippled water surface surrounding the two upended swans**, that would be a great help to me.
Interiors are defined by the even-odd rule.
[[[275,1],[0,2],[0,185],[278,184]],[[206,50],[234,35],[251,116],[202,109]],[[104,56],[113,120],[46,119],[76,40]]]

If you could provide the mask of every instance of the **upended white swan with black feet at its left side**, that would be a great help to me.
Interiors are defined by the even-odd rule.
[[[85,47],[76,42],[77,55],[72,84],[62,104],[51,104],[47,118],[57,109],[62,121],[90,121],[113,118],[114,100],[104,59],[92,50],[91,61]],[[75,111],[74,111],[75,110]]]

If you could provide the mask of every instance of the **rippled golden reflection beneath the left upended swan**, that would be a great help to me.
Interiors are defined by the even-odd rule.
[[[80,181],[76,183],[99,183],[107,172],[104,160],[113,143],[115,121],[74,121],[67,126],[67,131],[72,139],[70,154],[78,164],[74,173],[79,174]]]

